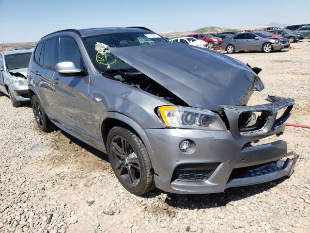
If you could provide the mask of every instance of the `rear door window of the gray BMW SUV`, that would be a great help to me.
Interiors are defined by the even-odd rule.
[[[56,53],[58,46],[58,38],[50,39],[45,42],[43,66],[55,69],[56,65]]]

